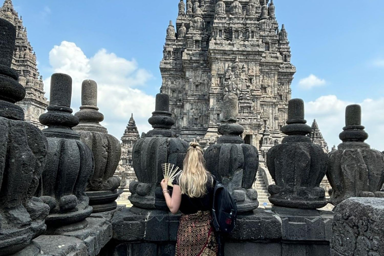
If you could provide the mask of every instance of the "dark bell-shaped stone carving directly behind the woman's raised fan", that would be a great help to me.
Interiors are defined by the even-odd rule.
[[[148,122],[153,129],[133,146],[132,163],[138,181],[129,184],[130,202],[145,209],[167,209],[160,182],[163,179],[161,164],[173,163],[182,169],[189,144],[176,137],[170,129],[174,124],[169,112],[169,96],[156,95],[156,109]]]

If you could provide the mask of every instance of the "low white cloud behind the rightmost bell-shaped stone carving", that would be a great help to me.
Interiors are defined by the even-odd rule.
[[[362,102],[348,102],[335,95],[326,95],[314,101],[305,102],[305,118],[310,125],[315,118],[322,135],[328,143],[329,149],[338,145],[341,140],[338,134],[345,126],[345,107],[349,104],[361,105],[361,124],[365,126],[369,138],[365,141],[380,151],[384,150],[384,115],[377,114],[384,109],[384,97],[378,99],[365,99]]]

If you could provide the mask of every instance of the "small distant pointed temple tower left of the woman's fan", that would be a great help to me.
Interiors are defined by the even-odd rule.
[[[132,167],[132,148],[133,144],[140,138],[136,122],[133,118],[133,113],[129,118],[126,125],[124,134],[121,137],[121,159],[118,163],[115,175],[121,178],[121,185],[119,187],[120,196],[119,201],[127,201],[129,196],[129,183],[136,180],[136,175]]]

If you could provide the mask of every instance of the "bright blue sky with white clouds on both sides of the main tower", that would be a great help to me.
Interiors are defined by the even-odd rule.
[[[117,108],[128,117],[112,109],[121,98],[100,99],[104,124],[120,137],[130,112],[137,116],[140,132],[149,129],[146,119],[161,85],[158,65],[165,30],[169,20],[177,16],[178,1],[13,0],[13,4],[23,16],[44,79],[52,72],[67,71],[78,87],[77,79],[93,75],[104,84],[102,91],[107,91],[110,84],[104,76],[110,72],[117,84],[114,91],[133,95],[133,99],[125,99],[132,102]],[[384,150],[384,1],[274,0],[274,4],[279,24],[284,23],[287,29],[291,61],[297,67],[292,97],[306,102],[309,124],[317,118],[328,143],[337,144],[345,105],[361,103],[368,142]],[[116,64],[116,69],[119,64],[125,68],[115,72],[110,63]],[[137,100],[140,96],[141,103]],[[112,102],[104,103],[108,100]],[[78,104],[74,95],[73,108]]]

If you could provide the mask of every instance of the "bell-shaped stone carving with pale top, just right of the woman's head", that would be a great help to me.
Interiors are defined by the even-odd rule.
[[[205,150],[206,168],[237,200],[238,211],[249,211],[258,206],[257,191],[251,188],[258,168],[258,152],[239,136],[244,128],[237,123],[237,96],[226,94],[222,107],[223,119],[217,129],[222,136]]]

